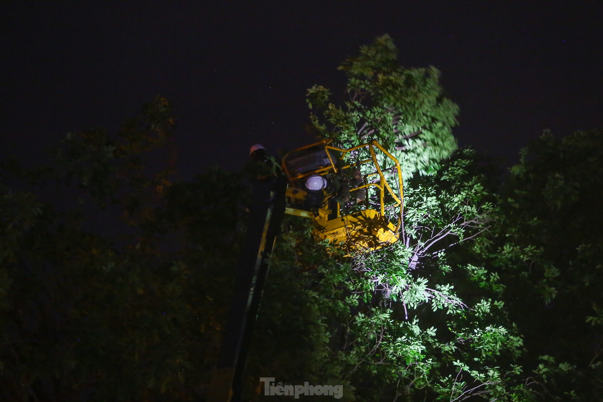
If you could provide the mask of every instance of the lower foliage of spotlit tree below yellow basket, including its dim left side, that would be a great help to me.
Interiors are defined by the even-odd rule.
[[[252,377],[344,384],[361,401],[520,392],[522,339],[500,300],[504,287],[474,265],[494,209],[480,169],[465,150],[410,180],[404,240],[384,250],[349,259],[290,228],[275,251]]]

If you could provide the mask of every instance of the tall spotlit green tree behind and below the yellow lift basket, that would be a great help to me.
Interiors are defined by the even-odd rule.
[[[349,258],[317,243],[309,228],[289,230],[273,256],[250,388],[279,373],[285,383],[344,384],[346,398],[367,401],[529,395],[504,286],[481,265],[494,188],[472,151],[447,159],[458,108],[441,96],[437,71],[400,67],[388,36],[340,69],[349,101],[336,107],[328,90],[312,87],[312,124],[341,146],[377,139],[401,160],[401,240]],[[284,352],[267,354],[274,344]]]

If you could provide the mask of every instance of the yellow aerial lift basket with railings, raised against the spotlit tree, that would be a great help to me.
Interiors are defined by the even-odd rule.
[[[403,207],[402,171],[398,160],[376,141],[349,149],[330,143],[313,143],[283,157],[283,172],[289,181],[285,213],[315,219],[318,237],[350,252],[376,250],[397,242]],[[393,164],[382,168],[376,150],[384,155],[381,163]],[[356,161],[349,163],[351,159]],[[306,188],[306,180],[317,175],[324,178],[325,188],[315,191]],[[355,179],[349,180],[352,176]],[[338,199],[340,195],[333,183],[346,180],[349,193],[364,192],[364,197],[356,197],[364,201],[343,205],[339,202],[341,198]],[[385,198],[389,198],[387,206]]]

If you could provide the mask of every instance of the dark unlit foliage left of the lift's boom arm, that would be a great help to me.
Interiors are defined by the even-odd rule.
[[[4,166],[0,399],[192,400],[207,382],[235,263],[238,177],[145,174],[172,127],[158,97],[122,140],[68,134],[52,168]],[[44,184],[65,198],[42,201]],[[87,230],[94,213],[111,219],[109,237]]]

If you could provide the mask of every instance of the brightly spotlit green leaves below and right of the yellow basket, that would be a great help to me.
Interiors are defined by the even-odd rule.
[[[321,318],[329,328],[341,327],[346,339],[343,346],[330,339],[336,360],[329,366],[349,373],[357,390],[371,390],[357,399],[387,400],[396,384],[404,387],[397,392],[418,400],[426,389],[449,400],[475,387],[502,397],[522,381],[522,368],[510,363],[522,351],[522,338],[500,300],[500,274],[484,260],[497,205],[477,164],[473,152],[462,151],[434,174],[409,180],[403,240],[354,256],[353,269],[335,287],[353,296],[344,299],[349,307],[343,316]],[[307,251],[302,255],[309,258]],[[306,286],[321,282],[317,277]],[[333,288],[323,289],[312,297],[336,304]],[[453,362],[473,379],[455,383]],[[442,381],[446,386],[438,385]]]

